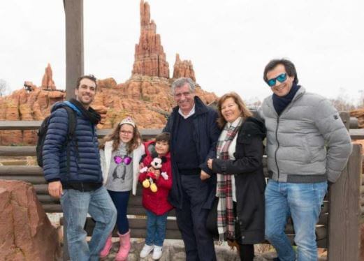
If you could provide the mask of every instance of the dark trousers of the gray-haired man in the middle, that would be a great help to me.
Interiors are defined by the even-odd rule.
[[[181,175],[182,209],[176,209],[177,225],[182,234],[187,261],[214,261],[214,241],[205,223],[209,209],[203,209],[208,184],[200,175]]]

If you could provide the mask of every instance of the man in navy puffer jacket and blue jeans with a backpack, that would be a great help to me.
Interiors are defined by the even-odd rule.
[[[115,206],[102,186],[96,135],[96,124],[101,117],[89,107],[95,94],[96,78],[93,75],[80,77],[75,89],[76,99],[52,107],[43,146],[43,172],[50,195],[60,197],[71,260],[99,260],[99,252],[116,221]],[[66,151],[68,113],[62,108],[65,106],[71,107],[77,117],[75,135],[69,141],[69,172]],[[89,244],[83,229],[87,213],[96,221]]]

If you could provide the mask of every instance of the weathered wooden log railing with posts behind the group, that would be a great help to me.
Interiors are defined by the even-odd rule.
[[[342,113],[342,120],[349,127],[349,114]],[[0,130],[37,129],[41,121],[2,121]],[[110,130],[98,130],[103,137]],[[154,137],[160,129],[140,130],[144,138]],[[364,134],[364,133],[363,133]],[[364,135],[363,135],[364,137]],[[0,147],[0,156],[35,156],[34,146]],[[364,179],[362,179],[361,146],[354,144],[353,154],[347,167],[335,184],[330,184],[323,209],[316,226],[316,241],[319,247],[328,248],[328,260],[358,260],[359,258],[359,224],[364,221]],[[266,170],[266,161],[263,158]],[[22,180],[34,185],[38,200],[46,212],[61,212],[61,205],[48,195],[48,185],[43,177],[43,171],[38,166],[7,165],[0,166],[0,179]],[[130,220],[131,236],[145,237],[145,209],[141,204],[141,193],[129,200],[128,214],[136,215]],[[175,217],[175,211],[168,215]],[[87,221],[86,230],[90,234],[93,228],[91,220]],[[286,226],[286,234],[293,244],[294,229],[291,221]],[[166,238],[181,239],[175,219],[168,219]]]

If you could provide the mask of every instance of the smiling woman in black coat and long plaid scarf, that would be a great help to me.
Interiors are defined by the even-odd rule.
[[[210,215],[207,225],[213,223],[215,230],[217,225],[220,241],[238,243],[241,260],[253,260],[254,244],[264,241],[262,141],[266,130],[235,92],[222,96],[217,108],[223,130],[217,158],[209,159],[208,167],[217,173],[219,200],[217,215]]]

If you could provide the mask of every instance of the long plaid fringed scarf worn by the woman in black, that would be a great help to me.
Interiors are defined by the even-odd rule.
[[[240,119],[237,126],[228,126],[225,124],[217,142],[217,158],[228,160],[228,147],[233,142],[236,133],[242,125]],[[219,241],[224,239],[235,239],[235,218],[233,211],[233,188],[231,186],[230,174],[217,174],[217,231],[219,232]]]

